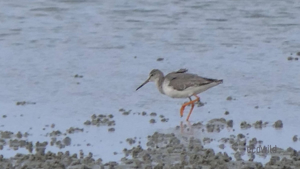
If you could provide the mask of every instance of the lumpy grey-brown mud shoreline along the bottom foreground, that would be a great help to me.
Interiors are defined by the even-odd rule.
[[[114,126],[115,121],[113,115],[92,115],[90,122],[85,122],[85,125],[95,126]],[[245,121],[241,122],[241,128],[262,128],[267,123],[257,121],[254,124],[249,124]],[[271,124],[270,124],[271,125]],[[51,125],[54,128],[55,124]],[[273,124],[274,128],[282,127],[281,121],[276,121]],[[14,157],[4,158],[0,156],[0,168],[7,169],[25,169],[25,168],[44,168],[44,169],[93,169],[93,168],[298,168],[300,167],[300,151],[292,148],[281,149],[276,147],[276,153],[271,153],[270,160],[262,164],[255,161],[256,156],[267,156],[268,152],[255,153],[249,149],[261,146],[262,141],[256,138],[249,139],[244,134],[230,135],[228,138],[222,138],[218,142],[219,147],[224,149],[225,145],[230,145],[235,151],[233,157],[226,152],[216,152],[211,148],[204,148],[204,144],[209,144],[213,139],[205,137],[202,140],[192,137],[188,132],[191,131],[206,131],[220,132],[225,128],[232,128],[232,120],[224,118],[211,119],[206,124],[201,122],[189,125],[177,126],[175,130],[180,134],[174,133],[158,133],[155,132],[148,136],[146,148],[139,145],[133,146],[132,149],[123,149],[124,157],[119,161],[103,162],[101,158],[93,158],[90,152],[84,154],[82,151],[76,154],[66,152],[45,152],[46,146],[57,146],[63,148],[70,146],[70,138],[67,134],[74,132],[82,132],[83,128],[69,128],[66,133],[60,131],[52,131],[49,133],[51,141],[32,143],[26,141],[28,133],[16,133],[10,131],[1,131],[1,149],[9,145],[11,151],[18,148],[26,148],[28,154],[17,153]],[[113,132],[113,131],[108,131]],[[57,140],[56,136],[65,134],[65,138]],[[188,137],[185,137],[186,135]],[[24,140],[25,139],[25,140]],[[295,140],[295,138],[293,138]],[[128,144],[134,145],[136,138],[128,138]],[[264,147],[266,148],[266,147]],[[241,158],[242,155],[248,155],[248,159]]]

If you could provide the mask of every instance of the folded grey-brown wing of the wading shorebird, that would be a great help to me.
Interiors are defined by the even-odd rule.
[[[168,74],[167,78],[170,80],[169,85],[178,91],[182,91],[191,86],[202,86],[218,81],[217,79],[203,78],[190,73]]]

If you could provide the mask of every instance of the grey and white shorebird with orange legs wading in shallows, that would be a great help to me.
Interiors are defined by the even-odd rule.
[[[161,94],[165,94],[172,98],[189,98],[190,101],[184,103],[180,109],[180,117],[182,117],[185,106],[191,105],[190,113],[186,118],[186,121],[188,121],[190,114],[194,109],[194,103],[200,100],[200,97],[198,97],[197,94],[223,83],[223,79],[204,78],[186,72],[187,69],[179,69],[176,72],[171,72],[164,76],[164,73],[160,70],[153,69],[149,73],[149,78],[141,84],[136,91],[149,81],[154,81]],[[195,96],[196,99],[192,100],[191,96]]]

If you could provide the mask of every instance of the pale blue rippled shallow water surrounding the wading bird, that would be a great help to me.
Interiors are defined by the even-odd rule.
[[[187,68],[224,79],[200,94],[207,104],[194,109],[192,122],[224,117],[234,121],[235,131],[220,137],[249,133],[266,145],[300,149],[292,142],[300,127],[300,61],[287,60],[300,51],[299,10],[299,2],[279,0],[1,1],[0,105],[7,118],[0,130],[28,131],[29,140],[49,141],[44,135],[51,129],[42,130],[46,124],[62,131],[84,127],[88,133],[70,136],[82,146],[65,150],[117,160],[130,147],[120,141],[136,136],[145,144],[148,134],[172,131],[183,120],[179,108],[186,100],[162,96],[154,84],[135,89],[154,68],[165,73]],[[156,61],[160,57],[164,60]],[[15,105],[23,100],[36,104]],[[149,124],[151,117],[123,116],[120,108],[170,120],[161,123],[157,116],[158,123]],[[83,122],[94,113],[115,115],[116,131],[86,128]],[[271,127],[278,119],[282,130]],[[244,120],[270,126],[243,131]],[[83,146],[86,142],[93,146]]]

